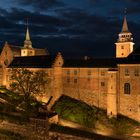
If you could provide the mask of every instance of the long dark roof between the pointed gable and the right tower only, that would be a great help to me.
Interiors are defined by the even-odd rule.
[[[95,68],[116,68],[117,61],[115,58],[107,59],[67,59],[64,60],[63,67],[95,67]]]

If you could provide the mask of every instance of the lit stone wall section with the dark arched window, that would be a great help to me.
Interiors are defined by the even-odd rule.
[[[140,70],[140,65],[119,65],[118,112],[140,121],[140,73],[135,76],[136,69]],[[130,94],[125,94],[124,83],[130,84]]]

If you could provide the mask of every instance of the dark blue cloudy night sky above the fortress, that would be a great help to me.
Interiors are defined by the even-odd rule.
[[[125,8],[137,47],[140,0],[1,0],[0,46],[22,46],[28,18],[33,47],[65,57],[112,57]]]

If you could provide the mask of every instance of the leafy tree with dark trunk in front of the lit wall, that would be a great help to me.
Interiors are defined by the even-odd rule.
[[[26,119],[29,119],[33,100],[36,100],[36,95],[43,94],[50,78],[41,70],[33,72],[24,68],[13,68],[10,72],[10,89],[23,96],[21,104],[24,105]]]

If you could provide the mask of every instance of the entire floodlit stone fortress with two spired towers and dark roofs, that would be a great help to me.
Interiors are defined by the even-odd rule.
[[[27,28],[24,45],[7,42],[0,54],[0,85],[7,88],[10,69],[27,68],[48,73],[51,83],[42,100],[62,94],[107,110],[109,117],[122,114],[140,122],[140,48],[134,50],[132,33],[124,17],[118,35],[116,57],[110,59],[63,59],[61,53],[50,55],[47,49],[32,46]]]

